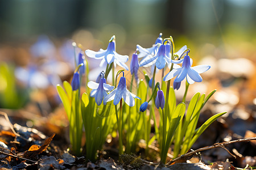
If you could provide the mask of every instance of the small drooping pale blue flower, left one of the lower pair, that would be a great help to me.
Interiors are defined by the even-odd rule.
[[[106,79],[104,78],[103,73],[101,73],[101,76],[100,83],[90,81],[87,84],[89,88],[93,89],[90,92],[90,96],[95,97],[97,105],[101,105],[103,98],[108,95],[106,91],[112,91],[114,89],[114,86],[106,84]]]

